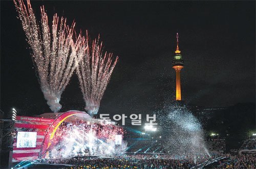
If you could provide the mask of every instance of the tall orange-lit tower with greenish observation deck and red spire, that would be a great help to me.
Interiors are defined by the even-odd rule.
[[[181,101],[180,70],[183,68],[183,59],[179,50],[179,34],[176,35],[177,48],[173,60],[173,68],[176,71],[176,101]]]

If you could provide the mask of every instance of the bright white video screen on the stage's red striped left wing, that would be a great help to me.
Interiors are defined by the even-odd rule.
[[[36,147],[36,132],[18,131],[17,148],[33,148]]]

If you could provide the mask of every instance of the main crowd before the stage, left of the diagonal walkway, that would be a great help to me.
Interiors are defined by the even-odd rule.
[[[195,160],[196,158],[196,160]],[[211,158],[215,158],[212,156]],[[75,157],[69,159],[52,159],[48,163],[66,163],[77,165],[70,168],[191,168],[206,160],[207,156],[173,156],[173,155],[148,155],[134,154],[112,158]],[[41,161],[44,162],[44,161]]]

